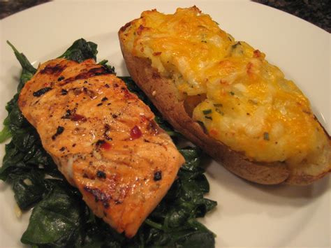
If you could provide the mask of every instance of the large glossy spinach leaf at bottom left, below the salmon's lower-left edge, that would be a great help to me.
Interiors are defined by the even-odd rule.
[[[54,184],[49,194],[34,207],[21,241],[29,245],[73,245],[67,240],[79,235],[83,214],[79,198],[61,183]]]

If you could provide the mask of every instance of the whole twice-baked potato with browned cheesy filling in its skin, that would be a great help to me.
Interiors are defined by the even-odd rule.
[[[145,11],[119,41],[165,119],[231,172],[260,184],[309,184],[330,172],[330,136],[309,100],[196,6]]]

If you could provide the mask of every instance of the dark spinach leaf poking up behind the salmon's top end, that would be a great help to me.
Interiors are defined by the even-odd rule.
[[[91,41],[85,41],[83,38],[75,41],[70,48],[64,52],[59,58],[66,58],[81,63],[85,59],[94,59],[96,61],[96,54],[98,45]]]

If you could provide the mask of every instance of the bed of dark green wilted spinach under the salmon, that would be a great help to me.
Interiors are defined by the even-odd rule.
[[[21,241],[33,247],[214,247],[214,233],[197,221],[216,206],[204,198],[209,184],[200,167],[203,155],[196,147],[179,149],[186,159],[178,177],[156,209],[149,214],[134,238],[128,239],[98,219],[57,170],[41,140],[17,106],[20,90],[36,73],[34,68],[13,45],[15,56],[22,66],[17,94],[6,110],[8,117],[0,133],[0,141],[12,137],[6,145],[6,155],[0,168],[0,179],[11,185],[21,210],[34,207],[29,226]],[[96,59],[97,45],[80,39],[75,41],[61,57],[78,62]],[[114,68],[101,61],[114,73]],[[163,120],[154,105],[135,85],[122,77],[128,89],[147,103],[156,115],[156,122],[177,142],[179,133]],[[13,220],[15,221],[15,220]]]

